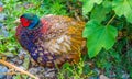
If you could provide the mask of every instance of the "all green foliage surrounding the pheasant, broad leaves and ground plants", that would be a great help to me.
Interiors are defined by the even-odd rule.
[[[58,78],[88,78],[97,75],[94,68],[99,68],[108,77],[111,77],[112,71],[117,79],[121,79],[124,71],[132,78],[132,0],[3,0],[2,2],[7,20],[1,23],[6,25],[9,36],[0,35],[0,54],[8,56],[19,53],[14,21],[21,14],[32,12],[40,18],[46,14],[69,15],[87,22],[82,34],[87,38],[88,55],[75,66],[65,64],[58,72]],[[24,67],[26,65],[25,63]],[[15,78],[20,78],[20,75]]]

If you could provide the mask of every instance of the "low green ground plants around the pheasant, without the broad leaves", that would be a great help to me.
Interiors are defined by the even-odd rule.
[[[46,14],[68,15],[75,19],[82,19],[81,14],[81,2],[76,0],[4,0],[2,13],[7,14],[7,20],[1,21],[6,25],[9,36],[4,37],[0,35],[0,54],[10,56],[18,55],[21,46],[15,40],[15,27],[14,21],[23,13],[31,12],[37,14],[40,18]],[[109,19],[109,18],[108,18]],[[113,22],[114,23],[114,22]],[[120,23],[128,24],[124,19],[116,19],[116,24]],[[128,29],[125,25],[124,29]],[[130,30],[130,29],[128,29]],[[123,31],[125,34],[125,31]],[[131,32],[131,30],[130,30]],[[120,36],[120,35],[119,35]],[[70,66],[65,64],[58,71],[58,79],[85,79],[90,76],[97,77],[98,68],[101,72],[110,77],[111,71],[116,74],[116,78],[121,79],[122,71],[127,72],[132,77],[132,38],[124,35],[111,48],[106,52],[102,49],[95,58],[90,59],[88,55],[84,56],[79,64]],[[2,56],[0,56],[2,57]],[[18,78],[20,75],[16,75]],[[25,77],[26,79],[26,77]]]

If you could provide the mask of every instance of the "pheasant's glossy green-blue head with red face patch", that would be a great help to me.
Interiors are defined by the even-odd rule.
[[[37,18],[37,15],[32,13],[24,13],[20,16],[20,21],[22,26],[28,27],[30,30],[38,26],[40,23],[40,19]]]

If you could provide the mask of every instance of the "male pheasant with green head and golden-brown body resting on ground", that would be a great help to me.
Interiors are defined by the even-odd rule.
[[[61,67],[64,63],[77,63],[85,45],[84,22],[63,15],[25,13],[20,18],[16,40],[31,57],[44,67]]]

